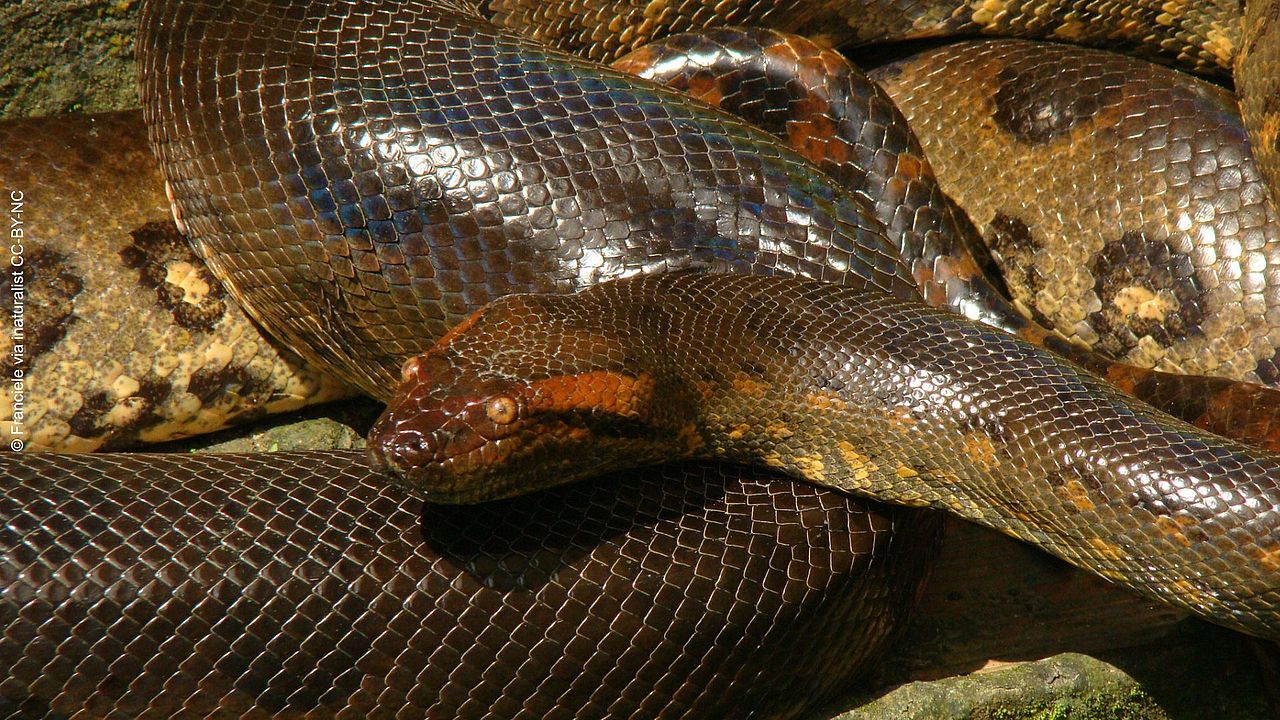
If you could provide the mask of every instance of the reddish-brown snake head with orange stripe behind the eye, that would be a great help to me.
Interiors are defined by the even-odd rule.
[[[369,434],[376,468],[461,503],[682,455],[687,432],[671,430],[681,406],[658,402],[652,370],[620,363],[594,331],[520,311],[529,306],[499,300],[403,365]]]

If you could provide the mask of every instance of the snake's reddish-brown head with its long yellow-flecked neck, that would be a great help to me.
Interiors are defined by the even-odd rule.
[[[920,304],[792,278],[628,278],[499,300],[403,374],[371,452],[436,501],[669,457],[756,462],[946,509],[1280,638],[1280,459]]]

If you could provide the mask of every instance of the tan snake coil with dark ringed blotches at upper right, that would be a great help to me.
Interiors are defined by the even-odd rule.
[[[983,225],[1030,228],[1027,252],[1000,247],[1021,306],[1121,361],[1261,379],[1280,342],[1280,214],[1234,96],[1133,58],[1015,40],[947,45],[897,68],[886,90],[947,192]],[[1028,142],[1016,123],[991,120],[998,102],[1075,124]],[[1155,241],[1167,249],[1146,247]],[[1121,266],[1115,243],[1143,258]]]

